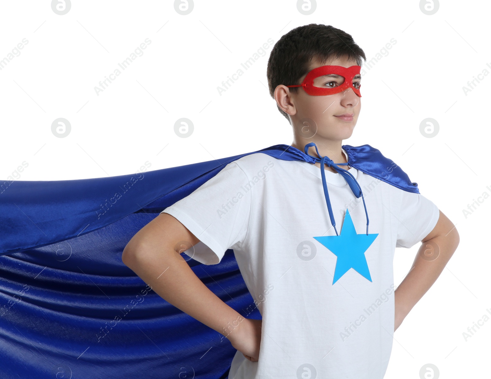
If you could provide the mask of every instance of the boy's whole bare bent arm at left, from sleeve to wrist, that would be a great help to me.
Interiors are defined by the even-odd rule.
[[[198,242],[176,218],[161,213],[128,242],[122,260],[164,300],[232,342],[246,319],[210,291],[179,254]]]

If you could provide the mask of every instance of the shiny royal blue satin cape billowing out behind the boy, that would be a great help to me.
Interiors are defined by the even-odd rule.
[[[379,150],[342,147],[352,167],[419,193]],[[315,163],[274,145],[131,175],[0,180],[0,378],[227,378],[230,342],[152,291],[121,254],[167,206],[258,152]],[[220,299],[261,318],[233,250],[215,265],[188,263]]]

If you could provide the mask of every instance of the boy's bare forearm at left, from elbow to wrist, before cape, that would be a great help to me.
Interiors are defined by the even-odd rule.
[[[144,249],[140,247],[140,249]],[[153,250],[153,251],[152,251]],[[174,249],[133,252],[125,264],[168,303],[225,337],[244,320],[194,274]]]

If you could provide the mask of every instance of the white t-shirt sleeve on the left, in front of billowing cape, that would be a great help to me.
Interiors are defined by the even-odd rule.
[[[185,253],[204,264],[217,264],[227,249],[242,246],[249,224],[248,179],[236,162],[161,213],[174,216],[200,240]]]

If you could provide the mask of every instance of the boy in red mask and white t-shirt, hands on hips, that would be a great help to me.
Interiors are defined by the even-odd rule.
[[[342,145],[360,113],[361,58],[351,35],[330,26],[282,36],[268,62],[270,93],[293,127],[290,149],[316,163],[237,159],[165,208],[123,252],[155,292],[230,340],[238,350],[230,379],[383,378],[394,330],[459,243],[430,200],[348,164],[361,151]],[[395,247],[419,241],[394,291]],[[193,246],[190,256],[204,264],[234,250],[261,321],[243,318],[194,275],[179,254]]]

